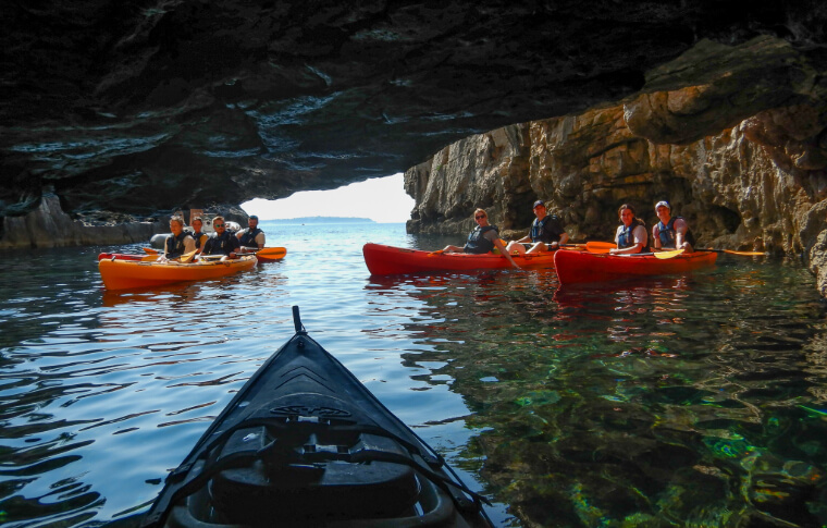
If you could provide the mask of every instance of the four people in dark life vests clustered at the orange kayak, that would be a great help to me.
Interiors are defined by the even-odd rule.
[[[164,242],[164,250],[158,257],[160,261],[173,260],[184,255],[215,255],[222,260],[236,258],[244,253],[255,253],[264,247],[264,232],[258,226],[258,217],[252,214],[248,219],[248,228],[231,233],[226,229],[223,217],[212,219],[214,233],[208,235],[203,229],[203,219],[195,217],[192,220],[193,232],[184,231],[184,219],[175,216],[170,219],[170,234]]]

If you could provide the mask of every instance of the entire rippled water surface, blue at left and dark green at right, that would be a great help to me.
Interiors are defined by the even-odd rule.
[[[827,525],[827,311],[799,263],[558,292],[554,270],[372,278],[403,224],[274,225],[280,262],[112,293],[0,253],[0,525],[134,526],[262,361],[310,335],[502,526]]]

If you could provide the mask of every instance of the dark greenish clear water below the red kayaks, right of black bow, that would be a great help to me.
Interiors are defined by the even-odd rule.
[[[372,278],[481,431],[464,456],[536,526],[827,521],[825,310],[799,270],[556,290],[554,273]],[[484,461],[481,463],[480,461]]]

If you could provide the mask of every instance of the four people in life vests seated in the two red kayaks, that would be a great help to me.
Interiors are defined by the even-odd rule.
[[[508,242],[499,238],[496,225],[489,223],[487,213],[483,209],[477,209],[473,213],[477,226],[468,235],[465,246],[445,246],[443,253],[485,254],[494,249],[499,250],[508,258],[515,268],[517,263],[511,255],[539,254],[553,251],[568,242],[568,233],[563,222],[555,214],[550,214],[545,202],[536,200],[533,205],[534,216],[529,234],[522,238]],[[643,220],[635,216],[634,207],[624,204],[617,211],[620,225],[615,233],[617,247],[609,253],[614,255],[639,254],[649,247],[649,234]],[[655,213],[658,222],[652,228],[652,250],[683,249],[691,253],[695,243],[689,224],[682,217],[671,216],[671,206],[667,201],[658,201],[655,205]],[[528,247],[527,247],[528,246]]]

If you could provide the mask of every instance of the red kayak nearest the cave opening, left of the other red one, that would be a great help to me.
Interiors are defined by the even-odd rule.
[[[408,249],[406,247],[384,246],[382,244],[365,244],[362,247],[365,263],[374,275],[392,275],[397,273],[419,273],[423,271],[466,271],[495,270],[513,268],[504,255],[486,253],[470,255],[465,253],[437,253]],[[536,266],[554,266],[554,254],[513,255],[514,261],[520,268]]]

